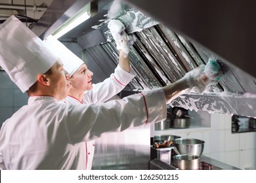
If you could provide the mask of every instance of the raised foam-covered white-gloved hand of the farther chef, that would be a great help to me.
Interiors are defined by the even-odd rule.
[[[135,37],[133,37],[133,35],[127,35],[125,25],[123,25],[120,20],[110,20],[110,22],[108,22],[108,29],[110,29],[112,37],[116,41],[117,50],[122,50],[125,53],[124,58],[127,58],[129,48],[133,46],[135,42]]]

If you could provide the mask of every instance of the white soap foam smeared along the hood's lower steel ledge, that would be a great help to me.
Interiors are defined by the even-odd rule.
[[[204,95],[186,93],[171,101],[171,106],[203,110],[223,114],[243,114],[247,117],[255,116],[255,93],[205,92]]]

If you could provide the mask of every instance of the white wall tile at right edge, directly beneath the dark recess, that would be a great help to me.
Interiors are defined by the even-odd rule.
[[[256,132],[240,133],[240,149],[252,150],[256,149]]]

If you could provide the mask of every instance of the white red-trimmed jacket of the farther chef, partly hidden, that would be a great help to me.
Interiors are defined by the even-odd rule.
[[[110,75],[109,78],[106,78],[103,82],[93,85],[93,90],[86,92],[83,100],[79,101],[72,96],[66,97],[62,102],[64,103],[73,103],[73,104],[91,104],[91,103],[103,103],[108,101],[111,97],[121,92],[123,88],[134,78],[135,75],[128,73],[127,71],[121,69],[117,65],[114,74]],[[80,146],[81,152],[85,155],[85,161],[81,163],[84,169],[91,170],[93,165],[93,156],[95,153],[95,141],[81,142],[77,144]]]

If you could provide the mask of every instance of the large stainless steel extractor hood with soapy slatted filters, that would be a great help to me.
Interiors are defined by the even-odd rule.
[[[90,2],[54,0],[32,31],[43,39]],[[123,11],[116,18],[127,26],[127,33],[137,37],[130,54],[137,76],[127,91],[165,86],[214,57],[226,66],[220,84],[202,95],[186,93],[171,105],[256,117],[253,5],[241,7],[242,1],[205,3],[200,0],[123,2]],[[93,3],[97,3],[96,14],[59,40],[85,60],[96,73],[93,81],[99,82],[112,73],[118,57],[107,21],[99,22],[107,19],[104,15],[112,1]]]

